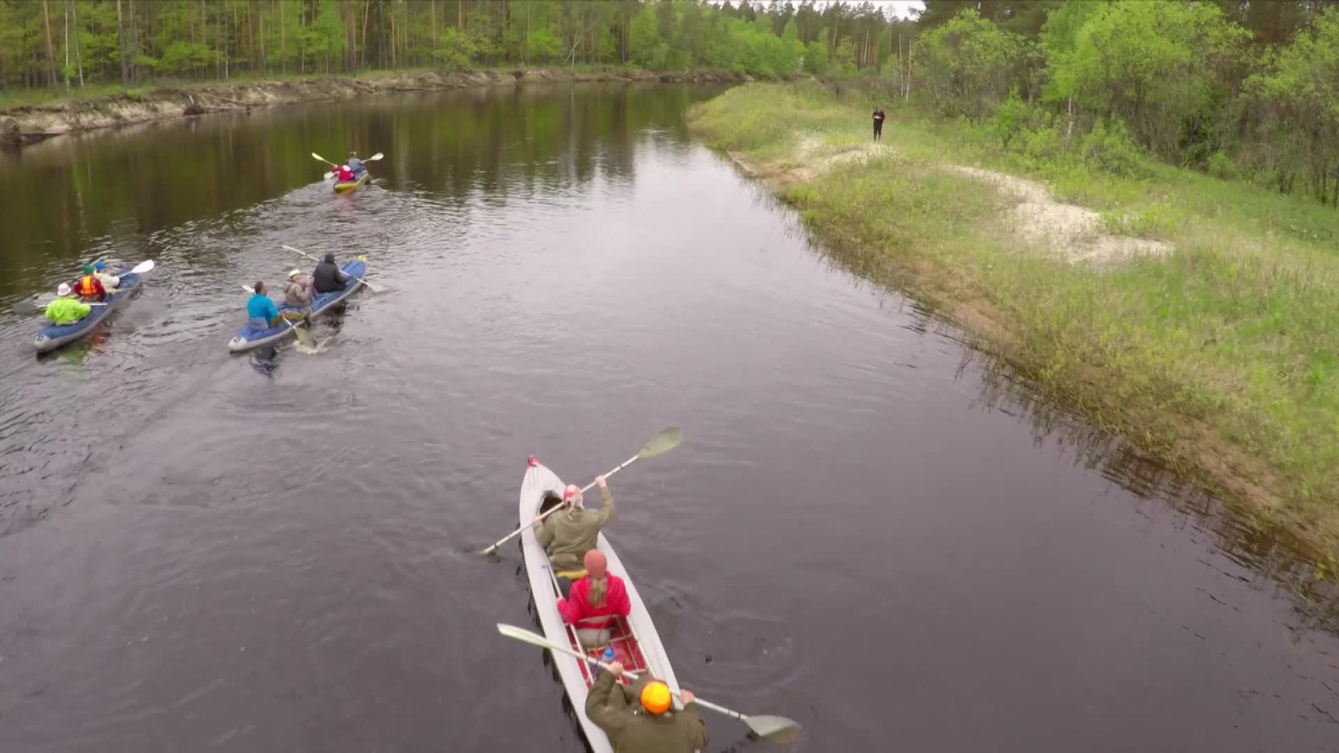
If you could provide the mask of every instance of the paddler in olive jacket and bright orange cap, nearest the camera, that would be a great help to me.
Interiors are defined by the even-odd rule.
[[[623,665],[600,673],[586,695],[586,718],[609,736],[613,753],[694,753],[707,746],[707,725],[692,703],[692,693],[679,691],[683,710],[674,710],[670,687],[643,675],[631,686],[617,682]]]

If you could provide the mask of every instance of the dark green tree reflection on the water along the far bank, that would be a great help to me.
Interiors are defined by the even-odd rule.
[[[382,151],[386,158],[371,165],[376,185],[462,205],[581,192],[597,178],[627,188],[641,135],[687,143],[683,109],[715,90],[663,87],[639,96],[644,91],[572,84],[383,95],[163,121],[0,153],[0,300],[31,293],[55,261],[151,256],[143,240],[155,232],[315,184],[323,167],[312,151],[332,161],[349,149]],[[356,193],[344,201],[358,201]]]

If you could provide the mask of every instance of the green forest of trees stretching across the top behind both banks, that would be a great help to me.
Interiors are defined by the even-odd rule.
[[[866,78],[1000,149],[1339,208],[1339,0],[0,0],[0,102],[394,68]]]

